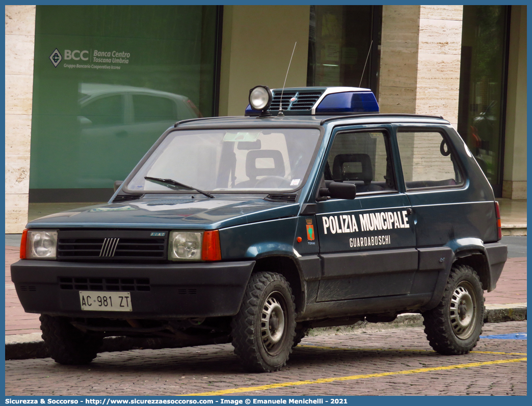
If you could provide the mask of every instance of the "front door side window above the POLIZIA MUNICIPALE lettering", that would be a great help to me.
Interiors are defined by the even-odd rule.
[[[383,132],[337,133],[327,157],[325,180],[356,184],[356,192],[394,190],[392,158]]]

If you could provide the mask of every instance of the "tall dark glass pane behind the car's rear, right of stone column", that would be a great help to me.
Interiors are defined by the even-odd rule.
[[[464,6],[458,132],[501,196],[508,6]]]

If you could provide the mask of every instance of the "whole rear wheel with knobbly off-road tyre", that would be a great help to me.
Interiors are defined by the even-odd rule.
[[[423,325],[430,346],[440,354],[467,354],[477,345],[484,325],[484,295],[473,268],[451,268],[443,298],[438,306],[423,313]]]

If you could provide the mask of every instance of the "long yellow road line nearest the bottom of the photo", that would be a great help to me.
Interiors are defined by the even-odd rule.
[[[355,379],[365,379],[365,378],[379,378],[381,376],[390,376],[390,375],[408,375],[408,374],[419,374],[422,372],[430,371],[443,371],[447,369],[460,369],[460,368],[472,368],[472,367],[481,367],[484,365],[496,365],[500,363],[509,363],[509,362],[521,362],[526,361],[525,358],[517,359],[501,359],[496,361],[485,361],[485,362],[470,362],[462,363],[459,365],[448,365],[443,367],[431,367],[431,368],[417,368],[409,369],[405,371],[396,371],[396,372],[383,372],[380,374],[365,374],[365,375],[351,375],[351,376],[340,376],[337,378],[321,378],[316,380],[297,380],[295,382],[284,382],[280,384],[271,384],[271,385],[262,385],[262,386],[250,386],[250,387],[240,387],[234,389],[226,389],[222,391],[212,391],[212,392],[203,392],[203,393],[188,393],[186,395],[179,396],[207,396],[207,395],[227,395],[230,393],[242,393],[242,392],[254,392],[254,391],[264,391],[267,389],[275,389],[286,386],[296,386],[296,385],[309,385],[309,384],[325,384],[329,382],[335,382],[338,380],[355,380]]]

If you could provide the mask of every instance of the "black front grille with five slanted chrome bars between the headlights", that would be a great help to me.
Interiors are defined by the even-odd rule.
[[[151,236],[156,234],[156,236]],[[58,260],[164,260],[165,231],[59,231]]]

